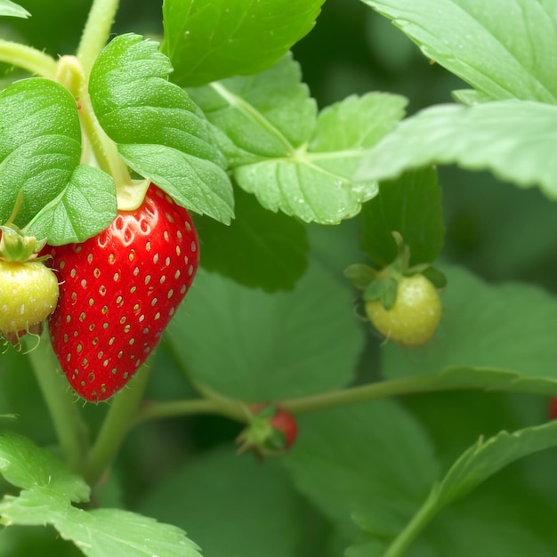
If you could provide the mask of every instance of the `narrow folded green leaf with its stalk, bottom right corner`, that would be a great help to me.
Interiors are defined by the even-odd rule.
[[[518,432],[500,432],[488,440],[480,439],[456,461],[443,480],[432,489],[412,521],[397,536],[385,557],[396,557],[411,544],[422,529],[457,498],[463,497],[481,482],[515,460],[557,446],[557,422],[525,428]]]

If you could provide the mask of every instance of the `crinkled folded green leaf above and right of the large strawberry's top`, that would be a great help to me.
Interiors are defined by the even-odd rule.
[[[93,65],[93,109],[136,173],[180,205],[228,223],[233,197],[226,162],[196,104],[168,81],[171,71],[154,41],[117,36]]]

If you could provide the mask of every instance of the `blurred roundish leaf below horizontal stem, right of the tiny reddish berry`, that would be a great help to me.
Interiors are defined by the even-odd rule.
[[[284,463],[298,488],[353,541],[354,513],[365,514],[377,536],[396,535],[438,477],[424,431],[391,401],[315,412],[298,425]]]

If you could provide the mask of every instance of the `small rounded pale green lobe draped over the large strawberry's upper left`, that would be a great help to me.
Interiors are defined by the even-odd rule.
[[[80,165],[66,188],[36,214],[28,233],[48,238],[51,246],[84,242],[109,226],[116,213],[112,178],[98,168]]]

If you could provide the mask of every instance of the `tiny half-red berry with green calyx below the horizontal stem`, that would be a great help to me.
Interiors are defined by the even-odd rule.
[[[236,440],[238,455],[252,450],[256,456],[284,455],[294,444],[297,426],[294,416],[276,405],[255,405],[248,410],[246,429]]]

